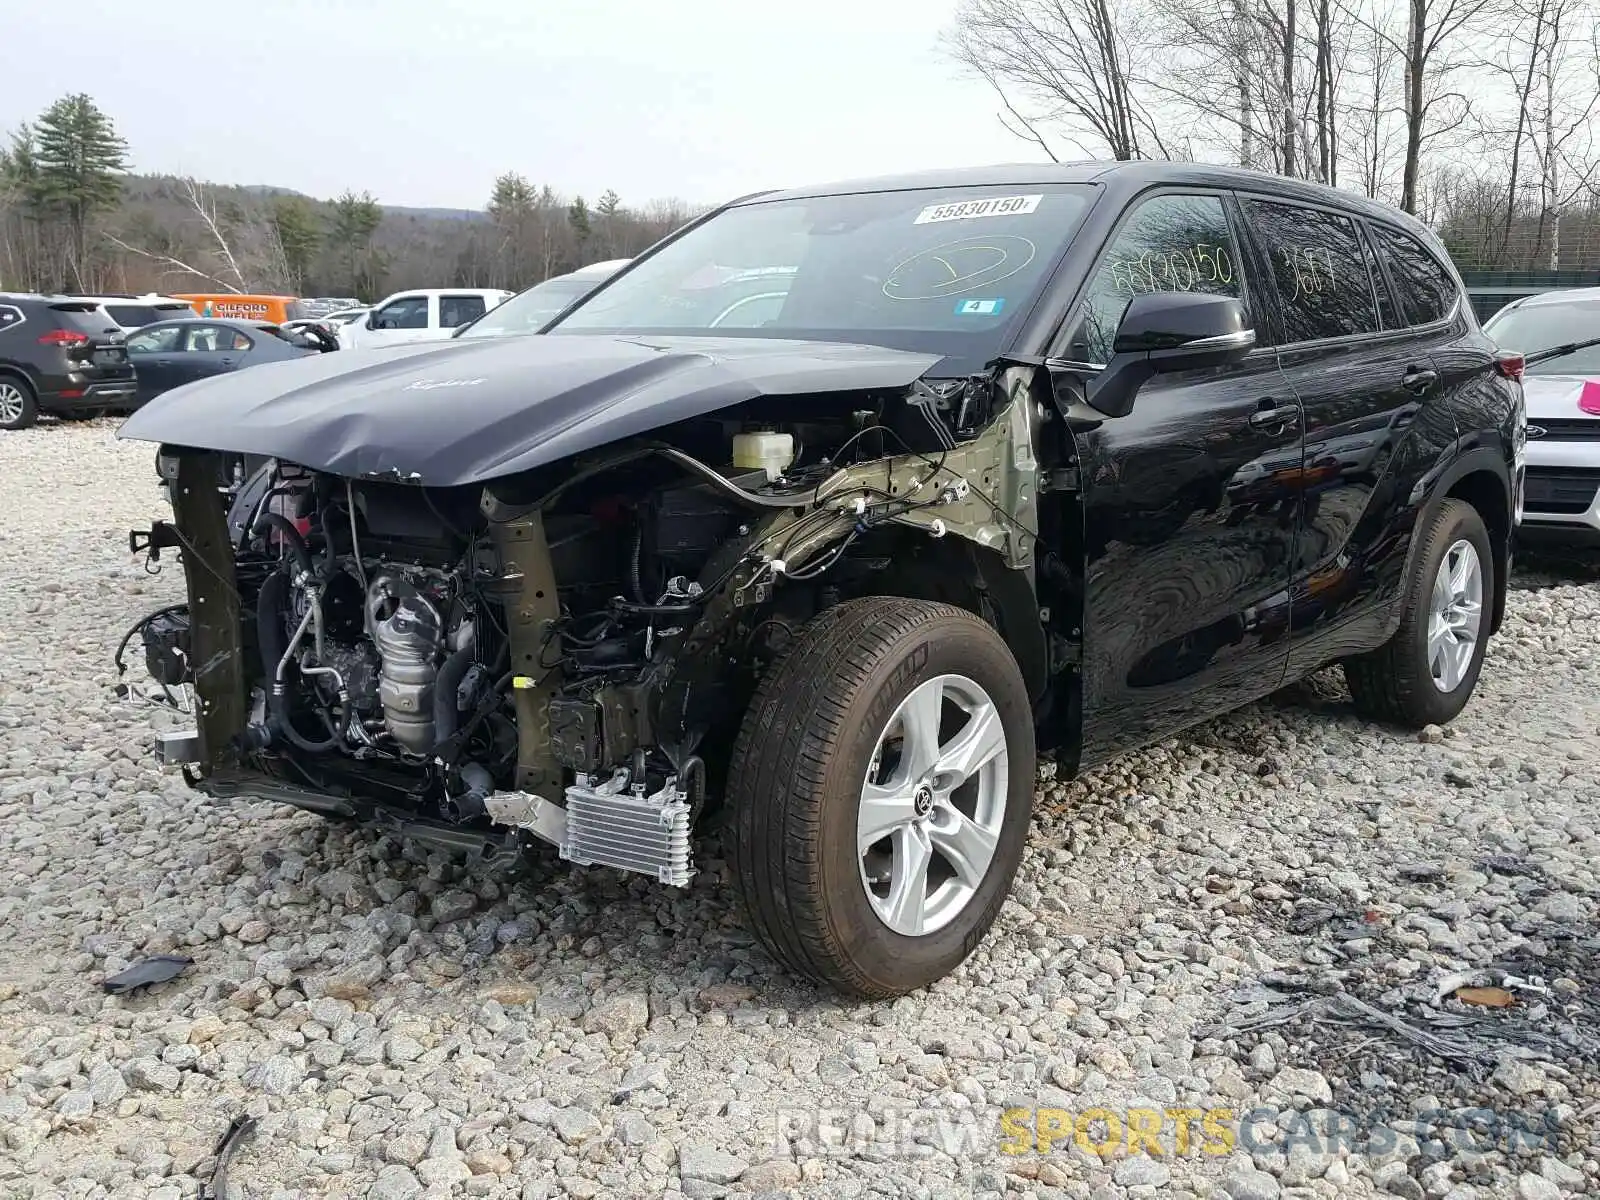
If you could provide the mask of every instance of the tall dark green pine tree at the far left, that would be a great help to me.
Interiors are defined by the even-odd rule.
[[[88,286],[90,226],[122,202],[128,144],[110,117],[83,93],[64,96],[34,123],[29,202],[66,226],[72,274]]]

